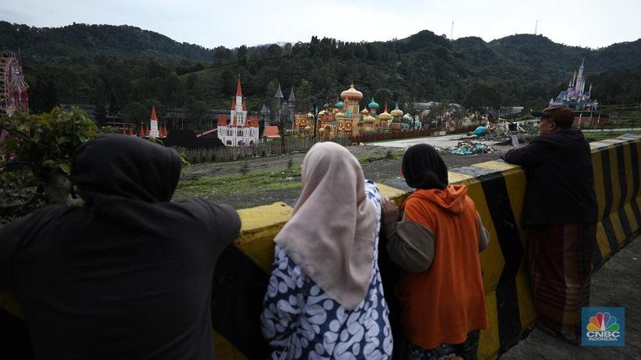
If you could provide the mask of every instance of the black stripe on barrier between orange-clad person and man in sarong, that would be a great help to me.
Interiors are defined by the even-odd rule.
[[[485,177],[481,186],[505,260],[499,283],[496,285],[496,312],[499,317],[501,351],[518,342],[518,335],[521,334],[516,273],[523,260],[523,246],[503,175],[493,171]]]

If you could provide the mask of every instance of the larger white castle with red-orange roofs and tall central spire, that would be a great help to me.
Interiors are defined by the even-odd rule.
[[[254,145],[259,142],[258,117],[247,115],[247,105],[243,101],[240,78],[236,86],[236,97],[231,100],[231,115],[229,123],[226,117],[218,119],[218,138],[226,146],[239,147]]]

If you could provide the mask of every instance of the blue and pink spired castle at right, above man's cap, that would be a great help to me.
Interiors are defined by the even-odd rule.
[[[570,79],[570,83],[568,84],[568,90],[559,92],[556,99],[550,99],[550,106],[563,105],[574,110],[574,126],[603,126],[610,122],[610,116],[597,112],[599,102],[598,100],[591,99],[591,84],[590,88],[588,88],[588,91],[585,91],[585,84],[587,82],[585,77],[583,77],[584,62],[585,59],[581,61],[578,73],[576,73],[576,71],[574,72],[574,75]]]

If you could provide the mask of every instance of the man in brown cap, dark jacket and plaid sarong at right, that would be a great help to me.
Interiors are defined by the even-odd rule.
[[[541,118],[540,136],[503,159],[523,166],[528,179],[523,225],[538,327],[579,344],[581,307],[590,304],[598,211],[590,145],[572,129],[568,107],[532,115]]]

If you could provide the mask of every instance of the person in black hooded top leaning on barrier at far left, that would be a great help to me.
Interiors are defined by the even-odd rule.
[[[179,176],[173,149],[98,137],[71,167],[84,206],[0,228],[0,289],[16,295],[36,359],[214,359],[214,266],[240,219],[171,202]]]

